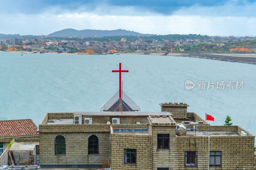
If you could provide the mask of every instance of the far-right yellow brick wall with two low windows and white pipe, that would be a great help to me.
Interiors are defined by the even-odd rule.
[[[221,167],[210,169],[231,170],[253,169],[253,144],[254,137],[210,137],[210,151],[221,151]],[[175,153],[177,163],[171,169],[208,169],[208,137],[177,137],[171,149]],[[197,167],[184,167],[185,151],[197,151]]]

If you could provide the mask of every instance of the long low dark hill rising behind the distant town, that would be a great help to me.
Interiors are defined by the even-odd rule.
[[[152,34],[142,34],[134,31],[127,31],[122,29],[117,30],[75,30],[75,29],[64,29],[61,31],[56,31],[54,33],[49,34],[49,36],[85,36],[85,37],[104,37],[104,36],[123,36],[123,35],[146,35],[150,36]]]

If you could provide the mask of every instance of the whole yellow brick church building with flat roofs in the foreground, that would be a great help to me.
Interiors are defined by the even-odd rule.
[[[161,112],[120,105],[47,113],[39,124],[40,167],[101,168],[110,161],[111,170],[253,169],[254,136],[240,126],[210,126],[186,103],[162,103]],[[126,108],[140,110],[134,107]]]

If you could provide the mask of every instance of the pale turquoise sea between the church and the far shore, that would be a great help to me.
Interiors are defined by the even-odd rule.
[[[0,52],[0,117],[33,119],[38,125],[47,112],[100,111],[117,90],[122,63],[123,90],[141,111],[161,111],[159,103],[186,102],[188,112],[212,125],[227,115],[256,135],[256,65],[157,55],[69,55]],[[186,90],[185,81],[195,83]],[[243,89],[207,88],[208,81],[244,81]],[[205,89],[196,89],[206,81]],[[235,85],[234,85],[235,87]],[[249,124],[250,122],[250,124]]]

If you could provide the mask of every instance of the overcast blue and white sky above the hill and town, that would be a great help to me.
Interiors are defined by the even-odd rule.
[[[150,34],[255,36],[252,0],[0,0],[0,33],[48,35],[66,28]]]

